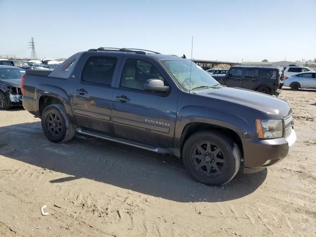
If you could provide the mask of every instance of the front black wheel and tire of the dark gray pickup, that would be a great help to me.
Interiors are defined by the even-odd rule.
[[[235,177],[241,156],[238,145],[229,137],[216,131],[205,131],[188,138],[183,146],[182,158],[185,167],[198,182],[219,186]]]

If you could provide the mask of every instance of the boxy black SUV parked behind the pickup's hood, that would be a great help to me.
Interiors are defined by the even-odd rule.
[[[283,69],[276,67],[233,66],[223,78],[214,77],[222,85],[239,87],[278,96],[283,86]]]

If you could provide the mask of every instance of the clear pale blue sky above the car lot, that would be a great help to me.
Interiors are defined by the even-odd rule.
[[[96,47],[221,61],[316,58],[316,0],[0,0],[0,55]]]

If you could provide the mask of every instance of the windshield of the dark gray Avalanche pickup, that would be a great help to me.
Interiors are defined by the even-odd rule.
[[[219,83],[202,68],[190,60],[161,60],[184,91],[217,86]],[[192,64],[192,70],[191,70]],[[191,74],[191,86],[190,86]]]

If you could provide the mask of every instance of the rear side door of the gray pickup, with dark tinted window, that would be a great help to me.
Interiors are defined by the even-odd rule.
[[[73,87],[74,116],[79,126],[112,133],[111,85],[117,65],[118,57],[87,57],[81,77]]]

